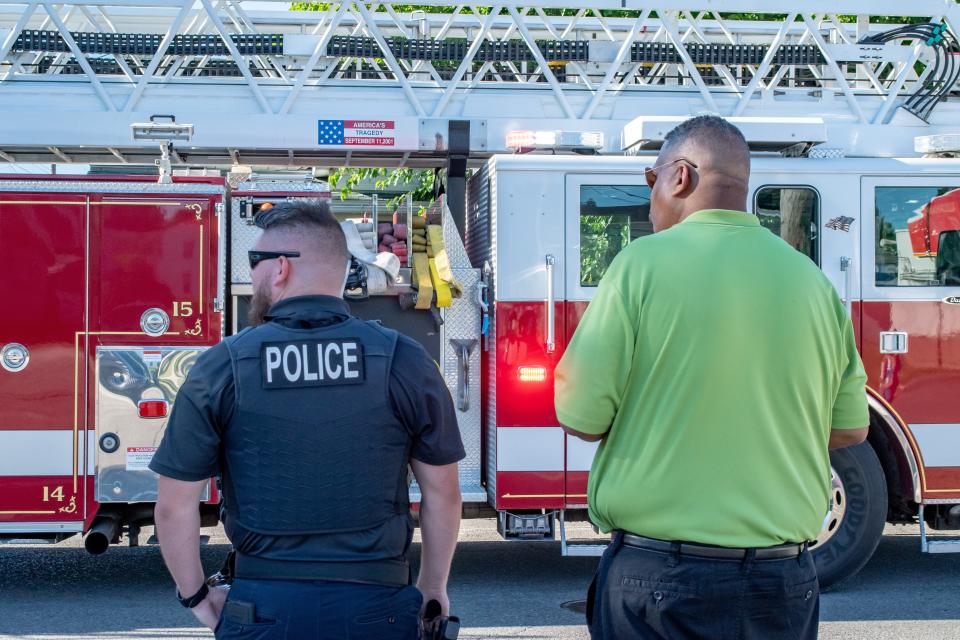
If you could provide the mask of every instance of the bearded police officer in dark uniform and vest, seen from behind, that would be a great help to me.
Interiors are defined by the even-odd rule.
[[[326,204],[255,222],[254,326],[197,360],[150,465],[177,597],[218,638],[413,640],[425,601],[449,610],[464,457],[450,394],[417,342],[350,315]],[[408,464],[423,496],[416,587]],[[216,475],[237,551],[229,596],[205,585],[199,555],[197,505]]]

